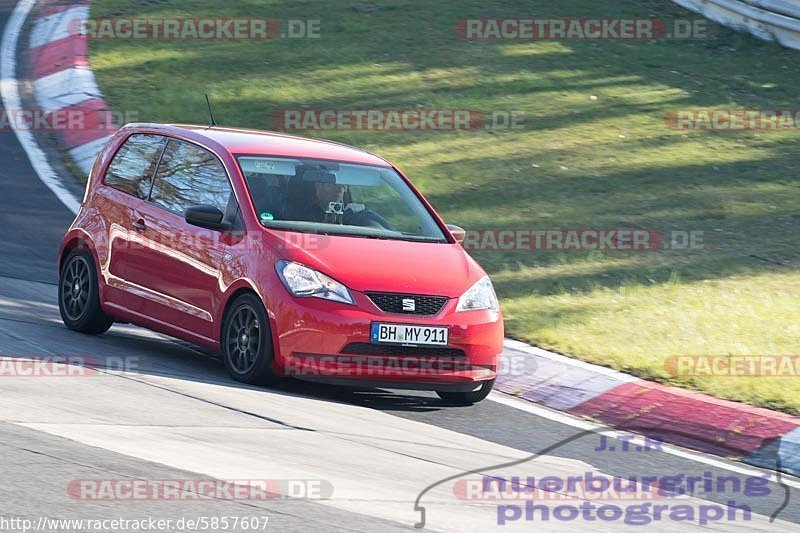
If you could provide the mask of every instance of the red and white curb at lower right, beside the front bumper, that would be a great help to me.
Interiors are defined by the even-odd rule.
[[[523,355],[535,364],[520,365]],[[495,385],[501,392],[670,444],[800,475],[798,417],[668,387],[518,341],[506,341],[504,356],[532,371],[501,373]]]

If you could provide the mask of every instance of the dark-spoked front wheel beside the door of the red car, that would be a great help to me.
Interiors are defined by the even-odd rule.
[[[280,380],[272,371],[267,313],[256,295],[243,294],[233,301],[222,324],[220,345],[225,368],[236,381],[272,385]]]

